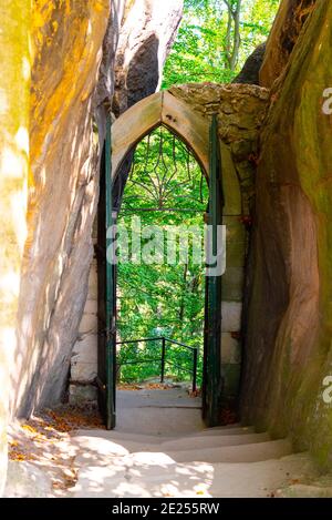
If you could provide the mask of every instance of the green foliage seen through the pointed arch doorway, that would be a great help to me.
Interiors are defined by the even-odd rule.
[[[196,160],[183,142],[166,129],[157,129],[136,149],[118,225],[131,230],[132,217],[137,215],[142,228],[157,225],[166,230],[168,226],[185,224],[203,230],[207,201],[208,186]],[[142,239],[143,246],[146,242]],[[166,234],[164,246],[166,261]],[[191,262],[191,246],[188,259],[188,263],[177,262],[176,265],[166,262],[153,265],[120,263],[120,339],[166,336],[189,346],[198,346],[203,353],[205,268]],[[143,349],[135,349],[136,346],[122,347],[120,359],[126,363],[136,355],[142,360],[160,357],[160,341],[147,343]],[[185,368],[193,368],[190,351],[181,347],[168,346],[167,359],[176,364],[183,360]],[[158,375],[159,369],[159,363],[128,365],[122,369],[122,378],[139,380]],[[181,376],[183,379],[189,377],[188,373],[170,366],[168,374]]]

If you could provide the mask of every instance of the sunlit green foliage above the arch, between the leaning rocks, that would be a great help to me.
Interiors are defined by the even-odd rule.
[[[236,69],[231,71],[226,55],[229,13],[225,0],[185,0],[183,22],[165,64],[163,88],[230,82],[257,45],[267,39],[279,3],[279,0],[242,0],[240,48]]]

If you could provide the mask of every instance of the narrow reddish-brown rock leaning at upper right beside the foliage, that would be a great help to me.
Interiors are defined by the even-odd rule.
[[[259,73],[261,86],[272,86],[284,70],[298,37],[317,0],[282,0],[267,42]]]

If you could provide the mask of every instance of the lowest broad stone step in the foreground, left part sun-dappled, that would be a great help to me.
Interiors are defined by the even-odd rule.
[[[74,498],[269,497],[283,482],[312,472],[307,455],[251,463],[167,463],[165,458],[133,465],[84,467],[70,490]]]

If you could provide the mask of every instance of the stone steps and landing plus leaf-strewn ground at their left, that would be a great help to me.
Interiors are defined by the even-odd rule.
[[[71,422],[65,410],[62,419],[53,412],[52,426],[39,418],[43,432],[37,419],[30,431],[25,425],[30,460],[11,462],[15,489],[9,481],[7,496],[273,497],[317,475],[309,456],[292,455],[287,439],[271,440],[240,425],[206,429],[200,399],[183,388],[120,390],[117,408],[113,431],[93,415]],[[19,439],[18,429],[14,435]],[[20,435],[15,442],[22,445],[22,427]]]

